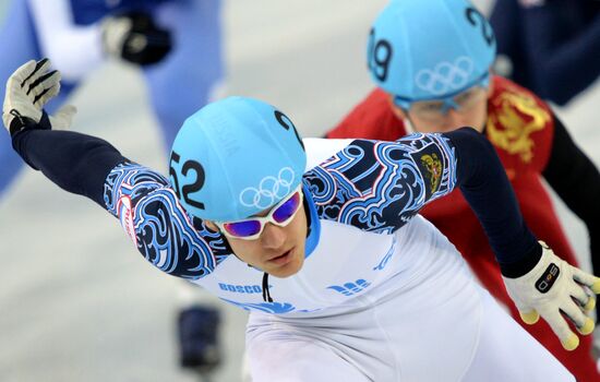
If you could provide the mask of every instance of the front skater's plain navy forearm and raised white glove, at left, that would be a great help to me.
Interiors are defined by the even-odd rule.
[[[100,139],[51,130],[68,128],[75,109],[53,117],[44,111],[44,105],[60,91],[60,73],[49,68],[48,59],[29,61],[11,75],[2,108],[4,126],[14,150],[29,166],[62,189],[104,205],[104,180],[125,158]]]

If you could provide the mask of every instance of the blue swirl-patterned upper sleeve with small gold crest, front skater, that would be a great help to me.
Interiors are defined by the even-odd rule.
[[[425,203],[452,192],[456,157],[442,134],[356,140],[304,178],[322,218],[393,232]]]

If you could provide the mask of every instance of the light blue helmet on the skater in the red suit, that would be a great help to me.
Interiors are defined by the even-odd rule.
[[[488,77],[495,38],[465,0],[392,0],[371,28],[368,64],[379,87],[408,102],[457,94]]]

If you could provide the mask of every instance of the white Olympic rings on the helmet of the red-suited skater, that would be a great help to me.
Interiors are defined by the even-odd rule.
[[[466,86],[473,70],[472,59],[460,56],[454,62],[440,62],[433,70],[420,70],[415,76],[415,83],[434,96],[445,95]]]

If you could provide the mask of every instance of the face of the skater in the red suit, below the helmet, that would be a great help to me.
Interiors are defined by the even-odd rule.
[[[449,132],[465,126],[482,132],[488,118],[488,98],[491,92],[491,85],[472,86],[445,99],[411,103],[408,109],[399,107],[393,95],[388,95],[388,98],[394,114],[409,121],[417,132]]]

